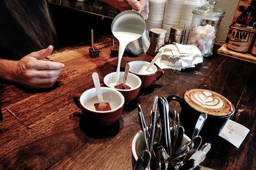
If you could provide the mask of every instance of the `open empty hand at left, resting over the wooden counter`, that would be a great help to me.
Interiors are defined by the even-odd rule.
[[[61,69],[65,66],[60,62],[40,60],[53,50],[50,45],[38,52],[32,52],[13,64],[12,81],[26,85],[32,89],[50,88],[56,82]]]

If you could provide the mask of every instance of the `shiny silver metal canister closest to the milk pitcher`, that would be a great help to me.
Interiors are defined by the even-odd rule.
[[[150,55],[156,55],[158,49],[164,46],[164,39],[166,37],[166,31],[164,29],[152,28],[149,31],[150,46],[147,53]]]

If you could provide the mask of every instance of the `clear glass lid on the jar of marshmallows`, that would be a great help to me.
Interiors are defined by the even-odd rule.
[[[220,17],[222,18],[225,11],[220,8],[215,8],[216,0],[207,0],[207,3],[202,7],[193,9],[193,13],[203,15],[205,17]]]

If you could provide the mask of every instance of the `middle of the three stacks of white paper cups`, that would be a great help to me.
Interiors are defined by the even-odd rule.
[[[180,24],[180,13],[184,0],[166,0],[164,10],[164,20],[162,29],[167,31],[166,42],[169,39],[170,29],[172,26]]]

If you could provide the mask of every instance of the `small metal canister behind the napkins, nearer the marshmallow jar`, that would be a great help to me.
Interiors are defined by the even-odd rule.
[[[172,44],[172,43],[181,44],[183,36],[184,36],[184,27],[172,26],[170,30],[168,44]]]

